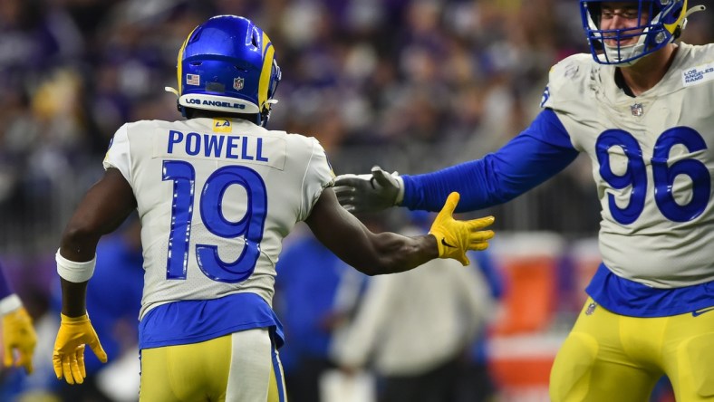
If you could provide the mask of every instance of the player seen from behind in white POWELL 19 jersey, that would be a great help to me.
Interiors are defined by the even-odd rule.
[[[84,196],[56,254],[63,309],[53,350],[57,378],[82,383],[83,352],[106,354],[85,307],[101,237],[137,209],[144,292],[141,401],[284,401],[271,308],[282,241],[305,222],[362,273],[407,271],[434,258],[467,264],[493,217],[457,221],[449,197],[429,235],[373,234],[333,192],[314,138],[265,129],[281,74],[251,21],[220,15],[178,52],[178,109],[188,120],[123,125],[104,177]],[[115,301],[121,302],[121,301]],[[91,306],[90,306],[91,307]]]

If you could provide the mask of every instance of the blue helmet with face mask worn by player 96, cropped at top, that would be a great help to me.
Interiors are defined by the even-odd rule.
[[[614,0],[614,2],[637,5],[638,21],[641,24],[627,29],[601,29],[601,5],[613,0],[580,0],[580,14],[587,35],[590,51],[595,62],[632,65],[642,57],[657,52],[668,43],[674,42],[687,25],[687,17],[704,10],[703,5],[697,5],[688,10],[687,0]],[[640,16],[649,15],[646,21]],[[637,37],[634,44],[620,45]],[[606,44],[604,39],[615,40],[618,44]]]

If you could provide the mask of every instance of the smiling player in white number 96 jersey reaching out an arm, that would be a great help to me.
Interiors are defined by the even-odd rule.
[[[353,211],[458,210],[519,196],[584,152],[602,205],[603,256],[555,358],[555,402],[647,401],[666,375],[678,401],[714,401],[714,44],[675,43],[687,0],[581,0],[592,54],[550,72],[542,111],[484,158],[418,176],[335,180]]]

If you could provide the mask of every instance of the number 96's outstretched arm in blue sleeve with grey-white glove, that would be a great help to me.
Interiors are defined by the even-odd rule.
[[[526,193],[570,165],[577,155],[555,112],[543,110],[530,127],[484,158],[388,180],[380,180],[384,175],[375,169],[371,175],[343,175],[336,178],[335,191],[351,212],[394,205],[438,211],[454,191],[463,199],[457,212],[474,211]]]

